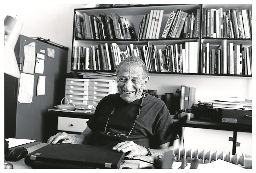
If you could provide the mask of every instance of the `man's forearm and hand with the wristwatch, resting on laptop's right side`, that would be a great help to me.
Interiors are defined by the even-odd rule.
[[[148,149],[150,150],[152,156],[163,155],[166,148],[169,147],[169,144],[170,142],[162,144],[158,147],[159,149]],[[133,141],[120,142],[117,145],[115,145],[112,149],[123,153],[130,151],[130,153],[126,157],[147,155],[147,149],[143,146],[137,145]]]

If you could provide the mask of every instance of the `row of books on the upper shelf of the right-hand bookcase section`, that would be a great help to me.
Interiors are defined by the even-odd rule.
[[[252,38],[252,9],[203,8],[202,37]]]

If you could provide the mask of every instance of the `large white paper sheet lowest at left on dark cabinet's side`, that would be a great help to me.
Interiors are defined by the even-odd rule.
[[[19,103],[32,103],[34,95],[34,75],[21,73],[19,79]]]

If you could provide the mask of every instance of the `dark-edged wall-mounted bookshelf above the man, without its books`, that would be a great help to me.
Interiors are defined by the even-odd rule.
[[[202,72],[201,67],[200,66],[200,63],[201,63],[201,59],[203,59],[203,53],[202,53],[202,49],[205,49],[206,47],[206,44],[208,43],[209,44],[209,50],[216,50],[216,55],[217,55],[217,51],[218,51],[218,47],[219,45],[222,44],[223,40],[227,40],[227,44],[229,43],[233,43],[233,44],[242,44],[243,47],[250,47],[252,45],[252,39],[251,38],[212,38],[212,37],[203,37],[202,35],[202,30],[203,30],[203,9],[219,9],[222,7],[222,10],[223,12],[226,12],[230,9],[236,9],[238,8],[238,11],[242,11],[243,9],[251,9],[252,5],[248,4],[248,5],[210,5],[210,4],[207,4],[207,5],[204,5],[204,4],[195,4],[195,5],[163,5],[163,4],[158,4],[158,5],[134,5],[134,6],[112,6],[112,7],[98,7],[98,8],[87,8],[87,9],[74,9],[74,16],[75,14],[77,14],[78,12],[80,14],[83,14],[83,13],[86,13],[88,16],[96,16],[97,18],[100,18],[99,16],[100,15],[104,15],[104,14],[107,14],[109,16],[111,16],[111,13],[116,13],[118,16],[120,17],[125,17],[128,21],[130,21],[131,23],[133,23],[133,27],[134,27],[134,31],[136,33],[136,37],[138,37],[138,33],[139,33],[139,28],[140,28],[140,23],[142,22],[142,19],[143,19],[143,16],[145,14],[148,14],[150,15],[150,12],[152,10],[163,10],[163,15],[162,15],[162,22],[161,22],[161,27],[160,27],[160,32],[159,32],[159,37],[157,39],[149,39],[149,38],[145,38],[145,39],[138,39],[138,38],[132,38],[131,40],[127,40],[127,39],[120,39],[120,38],[114,38],[114,39],[110,39],[110,38],[101,38],[101,39],[96,39],[95,37],[94,38],[85,38],[85,37],[80,37],[78,38],[76,36],[76,20],[75,20],[75,17],[74,17],[74,23],[73,23],[73,41],[72,41],[72,47],[90,47],[90,46],[94,46],[94,51],[97,52],[97,49],[99,48],[99,45],[103,45],[105,46],[105,44],[107,43],[108,44],[108,48],[109,48],[109,56],[110,56],[110,61],[114,61],[114,60],[111,60],[111,56],[113,56],[113,54],[111,55],[111,45],[112,43],[116,43],[118,45],[118,47],[120,48],[120,51],[122,52],[127,52],[129,51],[128,48],[127,48],[127,45],[129,46],[130,44],[133,44],[133,48],[136,49],[136,46],[138,46],[139,49],[141,49],[141,58],[145,61],[145,58],[143,57],[143,46],[146,46],[149,48],[153,47],[152,45],[154,45],[156,47],[155,50],[161,50],[162,51],[162,59],[164,59],[163,61],[165,62],[165,64],[163,64],[165,68],[165,70],[161,70],[160,69],[160,64],[157,62],[157,60],[154,62],[154,59],[152,60],[152,58],[150,59],[149,58],[149,62],[146,62],[145,63],[148,63],[147,66],[149,68],[149,71],[150,73],[154,73],[154,74],[178,74],[178,75],[204,75],[204,76],[235,76],[235,77],[251,77],[252,75],[251,74],[244,74],[244,73],[225,73],[225,72],[220,72],[218,73],[217,70],[216,72],[213,74],[211,72]],[[179,37],[179,38],[162,38],[161,35],[165,29],[165,26],[166,26],[166,23],[168,21],[168,18],[170,16],[170,13],[171,12],[177,12],[177,9],[180,9],[181,11],[183,12],[186,12],[188,15],[187,17],[191,16],[192,14],[194,14],[194,17],[195,16],[198,16],[198,12],[199,12],[199,16],[200,17],[196,17],[196,19],[199,20],[199,22],[197,23],[197,27],[196,25],[194,25],[194,28],[196,28],[198,30],[198,35],[196,35],[196,32],[195,32],[195,36],[192,36],[192,37],[183,37],[182,35]],[[194,23],[196,23],[197,20],[195,20]],[[185,24],[184,24],[185,26]],[[184,27],[183,27],[184,28]],[[83,29],[83,28],[82,28]],[[99,29],[99,28],[98,28]],[[99,29],[100,30],[100,29]],[[182,30],[182,32],[184,31],[184,29]],[[113,34],[115,34],[113,31],[112,31]],[[181,33],[183,34],[183,33]],[[181,57],[181,60],[180,61],[180,64],[181,66],[177,65],[176,64],[173,64],[172,62],[169,62],[169,63],[172,63],[172,65],[174,66],[179,66],[177,67],[177,69],[175,68],[174,70],[174,66],[172,67],[172,69],[167,69],[168,67],[168,64],[167,64],[167,60],[166,60],[166,57],[167,57],[167,54],[166,54],[166,50],[167,48],[165,47],[165,45],[173,45],[174,49],[175,49],[175,45],[178,46],[179,48],[179,45],[182,45],[182,49],[187,49],[185,48],[186,47],[186,43],[191,43],[191,42],[194,42],[195,45],[197,45],[195,48],[194,48],[194,57],[196,57],[196,60],[194,60],[194,67],[195,70],[192,70],[192,71],[185,71],[182,69],[182,57]],[[147,46],[148,45],[148,46]],[[72,49],[73,50],[73,49]],[[102,49],[104,50],[104,49]],[[171,50],[171,47],[170,49]],[[178,49],[177,49],[178,50]],[[91,51],[89,49],[89,51]],[[153,49],[152,49],[153,51]],[[150,51],[149,51],[150,52]],[[179,50],[179,52],[181,52]],[[192,51],[191,51],[192,52]],[[105,52],[106,53],[106,52]],[[131,54],[131,52],[130,52]],[[182,53],[181,53],[182,54]],[[180,55],[181,55],[180,54]],[[77,54],[78,55],[78,54]],[[140,55],[140,54],[139,54]],[[149,56],[149,55],[148,55]],[[153,56],[153,53],[151,54],[152,57]],[[155,57],[156,59],[159,59],[157,56],[157,54],[155,54]],[[187,54],[186,54],[187,56]],[[104,68],[104,67],[101,67],[98,68],[95,66],[94,67],[88,67],[88,68],[85,68],[85,63],[84,65],[81,66],[80,69],[78,69],[77,67],[74,67],[74,64],[72,62],[74,62],[73,60],[73,52],[72,52],[72,56],[71,56],[71,71],[76,71],[76,72],[96,72],[96,71],[108,71],[108,72],[114,72],[115,71],[115,67],[114,67],[114,62],[112,64],[111,62],[111,69],[109,68]],[[102,56],[103,57],[103,56]],[[99,51],[99,58],[101,58],[101,53]],[[150,57],[150,56],[149,56]],[[187,56],[188,57],[188,56]],[[192,56],[191,56],[192,57]],[[96,53],[96,56],[94,57],[96,58],[95,60],[95,63],[97,63],[97,53]],[[104,58],[104,57],[103,57]],[[171,59],[171,57],[170,57]],[[174,57],[175,59],[175,57]],[[173,61],[174,59],[172,60],[169,60],[169,61]],[[177,61],[178,61],[178,58],[176,58]],[[192,59],[192,58],[191,58]],[[122,60],[122,56],[121,56],[121,60]],[[78,59],[76,59],[76,62],[78,61]],[[83,59],[81,58],[80,62],[84,62],[85,61],[85,57],[83,57]],[[107,59],[105,60],[107,61]],[[153,63],[152,63],[153,61]],[[158,60],[160,61],[160,60]],[[93,61],[91,61],[93,62]],[[159,64],[159,67],[157,67],[156,64]],[[154,68],[156,68],[157,70],[155,70],[154,68],[150,68],[150,66],[152,65],[154,66]],[[189,62],[189,64],[191,64],[191,62]],[[118,65],[118,63],[117,63]],[[210,64],[209,64],[210,65]],[[93,66],[93,65],[91,65]],[[170,65],[169,65],[170,66]],[[190,65],[189,65],[190,66]],[[73,68],[74,67],[74,68]],[[184,67],[184,66],[183,66]],[[178,70],[179,68],[179,70]],[[190,67],[189,67],[190,68]],[[197,69],[196,69],[197,68]],[[192,69],[192,68],[191,68]],[[177,71],[178,70],[178,71]],[[188,70],[188,69],[187,69]]]

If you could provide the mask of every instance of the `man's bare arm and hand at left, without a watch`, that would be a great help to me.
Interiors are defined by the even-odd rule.
[[[75,136],[68,135],[66,132],[59,132],[48,139],[47,145],[50,143],[56,144],[60,140],[63,140],[62,143],[85,144],[90,140],[92,134],[93,131],[89,127],[86,127],[80,135]]]

